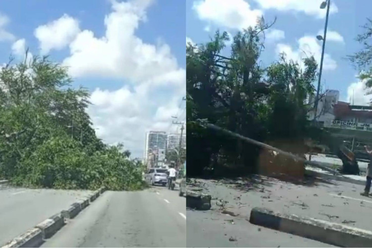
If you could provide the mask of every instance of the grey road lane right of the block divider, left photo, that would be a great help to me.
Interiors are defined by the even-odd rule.
[[[42,247],[186,247],[186,198],[178,191],[106,191]]]

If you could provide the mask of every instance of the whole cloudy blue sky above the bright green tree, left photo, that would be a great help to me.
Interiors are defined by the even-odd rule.
[[[185,119],[185,25],[183,1],[0,1],[0,62],[29,47],[68,66],[97,135],[141,157],[146,131]]]

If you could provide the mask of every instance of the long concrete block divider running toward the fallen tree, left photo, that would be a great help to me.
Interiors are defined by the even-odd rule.
[[[87,198],[78,200],[72,203],[67,209],[62,210],[61,213],[53,215],[36,225],[34,228],[27,230],[25,233],[15,237],[0,248],[10,247],[40,247],[46,239],[51,238],[64,225],[67,219],[72,219],[80,213],[84,208],[89,206],[90,202],[94,201],[98,196],[106,191],[105,187],[101,187],[94,191],[93,194]],[[93,198],[92,198],[93,197]],[[93,200],[92,200],[93,199]]]

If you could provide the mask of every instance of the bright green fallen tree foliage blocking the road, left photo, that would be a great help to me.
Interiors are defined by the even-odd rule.
[[[17,186],[143,188],[143,166],[105,145],[85,112],[89,93],[69,88],[66,68],[35,57],[0,72],[0,178]]]

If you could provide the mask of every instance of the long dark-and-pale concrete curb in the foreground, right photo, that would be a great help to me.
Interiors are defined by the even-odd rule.
[[[249,222],[338,247],[371,247],[372,232],[329,221],[253,208]]]

